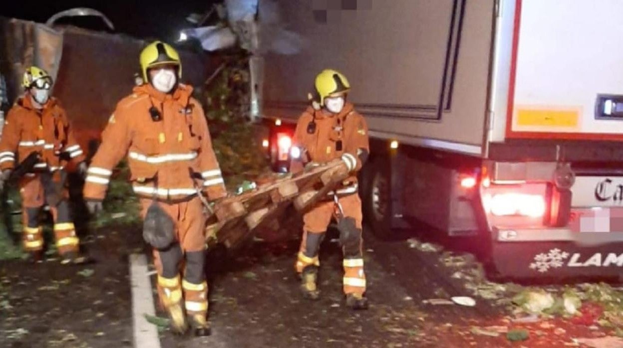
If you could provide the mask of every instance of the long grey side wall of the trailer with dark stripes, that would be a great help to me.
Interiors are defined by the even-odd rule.
[[[320,23],[316,2],[279,2],[288,29],[307,45],[298,55],[266,57],[264,115],[297,118],[316,73],[336,68],[349,78],[372,136],[480,154],[494,2],[368,3],[328,9]]]

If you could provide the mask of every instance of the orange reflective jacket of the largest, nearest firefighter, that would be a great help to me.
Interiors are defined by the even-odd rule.
[[[85,199],[103,199],[113,167],[126,154],[140,197],[172,202],[197,192],[209,199],[226,195],[206,117],[192,91],[180,84],[164,94],[145,84],[118,103],[88,168]]]

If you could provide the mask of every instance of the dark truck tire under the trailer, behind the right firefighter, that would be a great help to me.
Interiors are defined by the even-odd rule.
[[[376,158],[364,171],[361,202],[364,221],[380,240],[395,238],[391,228],[391,166],[388,159]]]

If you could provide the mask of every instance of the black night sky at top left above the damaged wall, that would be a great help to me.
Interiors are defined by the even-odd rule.
[[[45,22],[57,12],[73,7],[90,7],[105,14],[115,25],[115,32],[121,32],[146,39],[174,40],[179,30],[192,26],[185,18],[191,12],[206,12],[212,4],[222,0],[183,1],[4,1],[0,16]],[[97,17],[74,17],[61,19],[57,23],[70,23],[99,31],[108,31]]]

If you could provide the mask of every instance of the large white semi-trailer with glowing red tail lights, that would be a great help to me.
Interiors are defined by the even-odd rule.
[[[426,222],[479,237],[502,274],[622,274],[623,1],[278,3],[305,49],[265,56],[275,167],[335,68],[370,128],[376,235]]]

